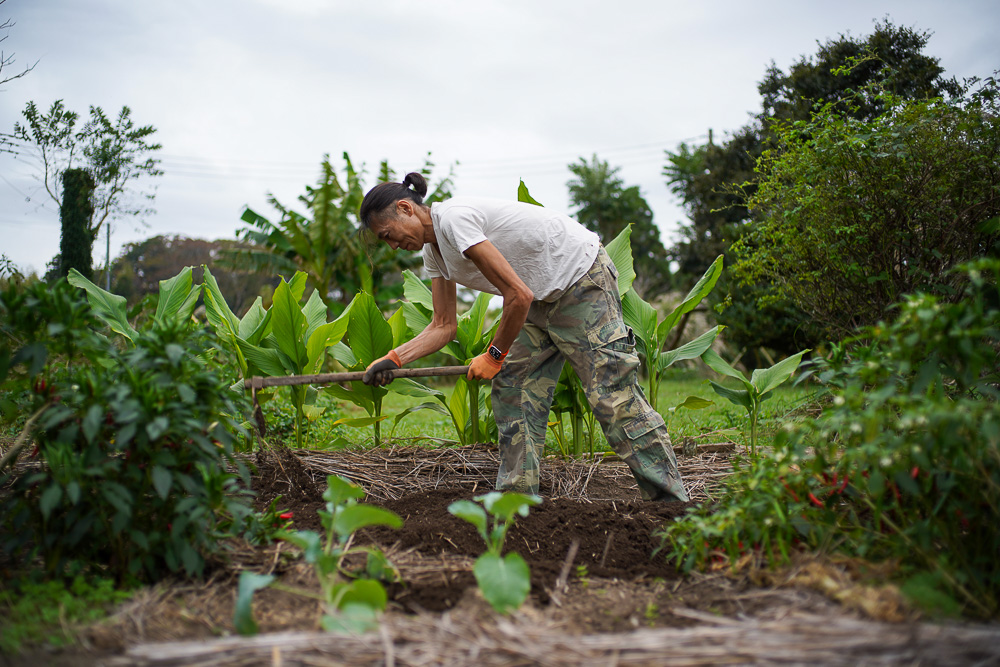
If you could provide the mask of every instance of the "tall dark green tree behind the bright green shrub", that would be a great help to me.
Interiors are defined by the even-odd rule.
[[[859,97],[854,91],[873,82],[910,99],[958,94],[954,79],[943,78],[938,59],[924,53],[929,39],[929,32],[885,20],[867,37],[840,35],[818,44],[814,56],[801,57],[787,73],[772,63],[758,84],[761,109],[749,124],[721,145],[711,141],[701,146],[681,144],[676,152],[668,151],[663,174],[689,219],[671,252],[682,280],[693,283],[720,253],[733,264],[729,248],[751,219],[744,197],[754,194],[757,159],[765,150],[776,148],[776,122],[808,120],[817,105],[839,104],[847,98],[852,102],[841,106],[842,113],[871,119],[882,112],[881,102],[877,96]],[[833,71],[858,61],[846,76]],[[787,299],[769,294],[768,283],[723,281],[712,298],[731,342],[789,354],[815,342],[817,334],[809,319]],[[744,307],[747,302],[753,306]]]

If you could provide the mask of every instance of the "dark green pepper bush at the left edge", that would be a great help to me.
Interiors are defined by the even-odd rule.
[[[26,435],[42,461],[0,478],[11,484],[0,498],[4,550],[40,556],[53,574],[73,562],[118,578],[200,573],[251,512],[232,454],[245,399],[210,362],[213,340],[156,322],[122,351],[94,333],[82,295],[62,282],[8,290],[0,313],[13,317],[0,380],[31,386],[27,404],[7,407],[34,416]]]

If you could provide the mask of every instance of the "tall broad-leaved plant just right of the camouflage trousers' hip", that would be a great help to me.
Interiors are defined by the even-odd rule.
[[[684,300],[660,322],[657,322],[656,309],[636,294],[634,289],[629,289],[622,298],[625,323],[635,332],[637,351],[643,359],[646,378],[649,381],[649,391],[646,398],[654,410],[656,409],[660,377],[663,375],[663,371],[682,359],[697,359],[702,356],[706,350],[711,348],[719,332],[724,328],[722,326],[713,327],[678,348],[663,349],[668,343],[671,330],[685,315],[694,310],[702,299],[708,296],[715,287],[715,283],[718,282],[720,275],[722,275],[722,255],[719,255],[712,262],[712,265],[691,288]]]

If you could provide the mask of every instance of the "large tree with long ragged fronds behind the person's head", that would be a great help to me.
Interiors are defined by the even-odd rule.
[[[402,272],[419,264],[419,258],[399,253],[377,244],[368,248],[358,234],[357,213],[364,198],[362,174],[355,170],[350,156],[344,153],[344,183],[325,157],[315,187],[306,186],[299,197],[306,213],[285,206],[274,196],[269,203],[279,213],[272,222],[252,209],[243,213],[248,226],[237,236],[250,244],[247,248],[223,253],[228,266],[254,273],[303,271],[309,282],[328,302],[338,301],[341,309],[359,291],[376,297],[380,304],[402,294]],[[430,176],[433,165],[425,163],[422,173]],[[381,180],[391,180],[392,171],[383,162]],[[451,196],[451,177],[442,179],[426,201]]]

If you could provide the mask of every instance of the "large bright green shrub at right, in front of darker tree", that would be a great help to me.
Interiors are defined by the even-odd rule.
[[[903,294],[950,299],[952,269],[1000,250],[1000,98],[907,100],[859,91],[872,120],[827,104],[775,124],[748,200],[756,221],[734,247],[737,274],[787,297],[828,336],[874,325]]]

